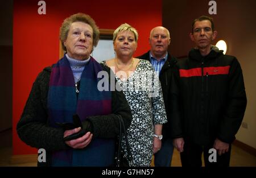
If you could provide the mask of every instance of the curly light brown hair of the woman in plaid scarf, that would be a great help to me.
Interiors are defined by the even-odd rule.
[[[98,40],[100,39],[100,31],[95,23],[95,21],[87,14],[77,13],[69,16],[64,20],[60,27],[60,41],[64,51],[67,51],[67,48],[64,45],[64,41],[68,38],[68,31],[73,22],[84,22],[89,24],[93,29],[93,47],[96,47]]]

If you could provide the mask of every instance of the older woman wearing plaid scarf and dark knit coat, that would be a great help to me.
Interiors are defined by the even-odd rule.
[[[111,71],[90,56],[99,40],[98,27],[89,15],[72,15],[60,28],[60,40],[67,53],[36,78],[18,135],[46,150],[46,163],[38,165],[112,165],[118,118],[127,128],[132,115],[122,92],[97,88],[97,73]]]

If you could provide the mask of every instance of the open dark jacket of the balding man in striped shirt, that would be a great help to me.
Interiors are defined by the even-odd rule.
[[[142,56],[138,56],[139,59],[146,59],[150,61],[150,51],[147,53],[144,53]],[[166,60],[166,63],[164,63],[160,74],[159,74],[159,80],[162,86],[162,92],[163,92],[163,99],[164,99],[164,106],[166,107],[166,114],[167,114],[167,123],[163,124],[162,129],[162,135],[163,139],[171,138],[171,126],[170,126],[170,113],[171,113],[171,78],[172,78],[172,68],[174,67],[175,63],[177,62],[177,59],[168,53],[168,57]]]

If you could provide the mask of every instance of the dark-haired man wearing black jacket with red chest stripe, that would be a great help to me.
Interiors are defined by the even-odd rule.
[[[229,166],[245,113],[240,63],[211,45],[216,36],[212,18],[195,19],[190,38],[196,47],[174,68],[170,125],[183,166],[201,166],[203,152],[205,166]]]

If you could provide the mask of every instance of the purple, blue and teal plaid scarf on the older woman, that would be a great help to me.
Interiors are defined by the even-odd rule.
[[[73,122],[73,114],[78,114],[81,121],[92,115],[107,115],[112,111],[110,90],[100,92],[97,89],[98,72],[101,65],[90,57],[81,74],[80,92],[77,99],[75,80],[67,60],[60,59],[52,67],[48,91],[48,118],[53,127],[56,122]],[[108,166],[113,163],[114,140],[92,139],[83,149],[55,151],[52,154],[52,166]]]

